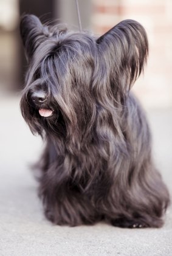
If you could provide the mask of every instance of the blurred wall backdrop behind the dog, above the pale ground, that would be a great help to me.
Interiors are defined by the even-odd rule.
[[[136,19],[148,33],[150,57],[134,91],[151,108],[172,105],[172,1],[79,0],[83,29],[102,35],[122,19]],[[0,0],[0,89],[22,89],[27,63],[19,38],[19,17],[33,13],[46,22],[57,19],[77,29],[75,0]]]

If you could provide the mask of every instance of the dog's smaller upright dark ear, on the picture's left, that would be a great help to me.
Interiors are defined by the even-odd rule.
[[[49,35],[49,30],[35,15],[23,15],[20,22],[20,33],[27,57],[30,59],[36,48]]]

